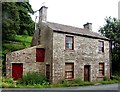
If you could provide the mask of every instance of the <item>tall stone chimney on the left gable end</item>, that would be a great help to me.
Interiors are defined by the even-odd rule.
[[[48,7],[42,6],[39,9],[39,22],[47,22],[47,9]]]

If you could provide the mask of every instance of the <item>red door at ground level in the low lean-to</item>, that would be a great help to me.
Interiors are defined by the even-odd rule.
[[[23,64],[22,63],[13,63],[12,64],[12,78],[17,80],[23,76]]]

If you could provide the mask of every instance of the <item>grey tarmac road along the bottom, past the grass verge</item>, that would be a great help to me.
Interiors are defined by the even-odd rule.
[[[3,88],[2,92],[120,92],[120,84],[66,88]]]

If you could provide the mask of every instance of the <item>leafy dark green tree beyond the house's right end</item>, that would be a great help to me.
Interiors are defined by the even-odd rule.
[[[105,22],[99,32],[111,40],[112,71],[120,71],[120,21],[108,17]]]

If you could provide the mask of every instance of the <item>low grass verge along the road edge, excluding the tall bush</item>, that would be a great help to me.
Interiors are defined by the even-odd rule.
[[[24,84],[17,84],[17,82],[14,82],[12,78],[3,78],[2,88],[62,88],[62,87],[88,86],[88,85],[95,85],[95,84],[114,84],[118,82],[119,82],[118,80],[85,82],[85,81],[76,79],[73,81],[64,80],[57,84],[49,84],[45,82],[42,84],[24,85]]]

